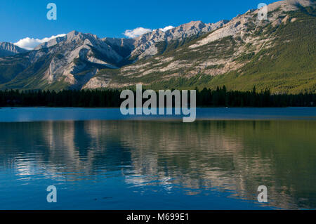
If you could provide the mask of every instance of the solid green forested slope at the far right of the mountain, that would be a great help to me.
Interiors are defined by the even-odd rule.
[[[239,60],[251,59],[241,70],[214,77],[206,85],[215,87],[225,84],[230,89],[259,90],[270,88],[273,93],[316,93],[316,20],[315,15],[302,12],[289,13],[295,22],[266,27],[274,29],[274,46],[256,55],[242,55]]]

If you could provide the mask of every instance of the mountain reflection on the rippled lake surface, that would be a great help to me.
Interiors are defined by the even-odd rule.
[[[0,123],[0,131],[1,209],[22,200],[9,197],[17,183],[39,189],[48,180],[65,190],[88,185],[95,197],[107,185],[109,197],[132,187],[251,204],[266,185],[270,207],[316,208],[316,121],[41,121]]]

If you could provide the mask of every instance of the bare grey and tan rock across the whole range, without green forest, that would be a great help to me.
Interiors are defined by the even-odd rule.
[[[310,6],[309,0],[286,0],[277,1],[268,6],[268,11],[294,11],[301,6]],[[169,72],[187,70],[191,62],[175,61],[173,58],[159,58],[157,43],[170,41],[183,41],[187,37],[199,37],[207,34],[203,39],[187,47],[187,51],[200,51],[201,47],[207,44],[232,36],[239,38],[246,44],[261,46],[261,40],[251,39],[251,32],[248,32],[249,25],[253,23],[254,27],[260,29],[261,22],[256,20],[256,11],[247,11],[243,15],[228,21],[221,20],[216,23],[204,23],[193,21],[165,32],[155,29],[152,32],[141,35],[134,39],[126,38],[103,38],[100,39],[93,34],[84,34],[77,31],[68,33],[65,37],[51,39],[44,44],[37,46],[34,51],[26,51],[10,43],[0,43],[0,57],[13,56],[10,58],[0,58],[0,67],[2,71],[10,71],[10,74],[0,74],[0,88],[51,88],[56,84],[62,83],[67,88],[103,88],[103,87],[121,87],[131,83],[117,84],[113,81],[112,73],[96,76],[101,69],[117,69],[117,74],[122,77],[145,76],[150,72]],[[282,20],[279,19],[279,13],[272,13],[268,21],[263,24],[272,23],[279,25]],[[288,22],[288,21],[286,21]],[[266,45],[264,46],[266,47]],[[210,49],[211,50],[211,49]],[[210,70],[206,74],[223,74],[228,70],[237,69],[242,65],[237,65],[233,59],[246,49],[236,49],[235,55],[230,59],[220,60],[218,58],[203,59],[202,62],[195,62],[192,68],[192,75],[199,72],[204,67],[213,65],[222,65],[216,72]],[[23,58],[14,57],[15,54],[25,53]],[[150,65],[150,62],[143,62],[131,65],[142,58],[157,58],[157,65]],[[170,63],[166,66],[166,63]],[[225,67],[223,67],[225,65]],[[152,66],[152,67],[150,67]],[[161,67],[159,67],[161,66]],[[193,64],[192,64],[193,66]],[[13,69],[12,69],[13,68]],[[13,72],[12,72],[13,71]],[[213,72],[213,73],[212,73]],[[1,77],[1,75],[3,77]],[[176,72],[173,74],[178,76]],[[36,76],[36,77],[35,77]],[[8,81],[8,77],[12,77]],[[1,83],[2,80],[2,83]],[[21,81],[22,80],[22,81]],[[27,85],[25,84],[27,83]],[[32,86],[32,87],[29,87]]]

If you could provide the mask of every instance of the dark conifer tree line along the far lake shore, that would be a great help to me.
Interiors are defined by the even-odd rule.
[[[215,90],[197,91],[197,107],[314,107],[315,93],[271,94],[267,89],[227,91],[225,86]],[[0,91],[0,107],[119,107],[125,99],[118,89],[63,91]],[[136,94],[134,92],[134,94]],[[158,95],[158,94],[157,94]]]

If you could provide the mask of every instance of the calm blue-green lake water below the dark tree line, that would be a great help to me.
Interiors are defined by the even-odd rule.
[[[2,108],[0,209],[316,209],[315,136],[315,108]]]

